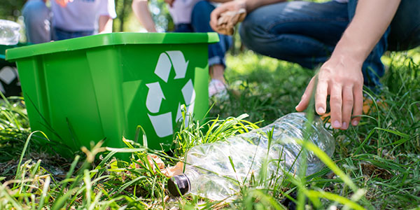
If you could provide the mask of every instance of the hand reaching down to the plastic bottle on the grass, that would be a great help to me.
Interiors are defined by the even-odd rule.
[[[353,116],[359,116],[363,111],[363,73],[362,64],[349,57],[331,57],[325,62],[318,74],[314,76],[302,99],[296,106],[296,111],[307,109],[311,94],[316,85],[315,110],[319,115],[326,111],[327,96],[330,95],[331,125],[335,129],[346,130]],[[356,126],[360,117],[355,117],[351,125]]]

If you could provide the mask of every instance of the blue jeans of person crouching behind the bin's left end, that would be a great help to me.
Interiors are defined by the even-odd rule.
[[[27,40],[30,43],[59,41],[67,38],[89,36],[94,31],[66,31],[52,27],[50,8],[42,0],[29,0],[23,6],[22,14],[25,20]]]

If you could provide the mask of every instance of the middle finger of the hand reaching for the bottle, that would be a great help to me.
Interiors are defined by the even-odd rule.
[[[333,128],[339,129],[342,127],[342,87],[333,84],[330,89],[331,123]]]

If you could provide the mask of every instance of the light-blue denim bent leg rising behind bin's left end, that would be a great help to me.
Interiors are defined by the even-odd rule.
[[[31,0],[23,6],[27,39],[30,43],[51,41],[50,9],[41,0]]]

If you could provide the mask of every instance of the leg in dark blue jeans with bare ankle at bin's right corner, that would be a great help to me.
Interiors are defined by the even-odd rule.
[[[195,32],[211,32],[210,13],[214,6],[209,1],[199,1],[193,8],[191,24]],[[232,45],[232,37],[219,34],[220,41],[209,45],[210,76],[225,82],[223,72],[225,70],[225,53]]]

